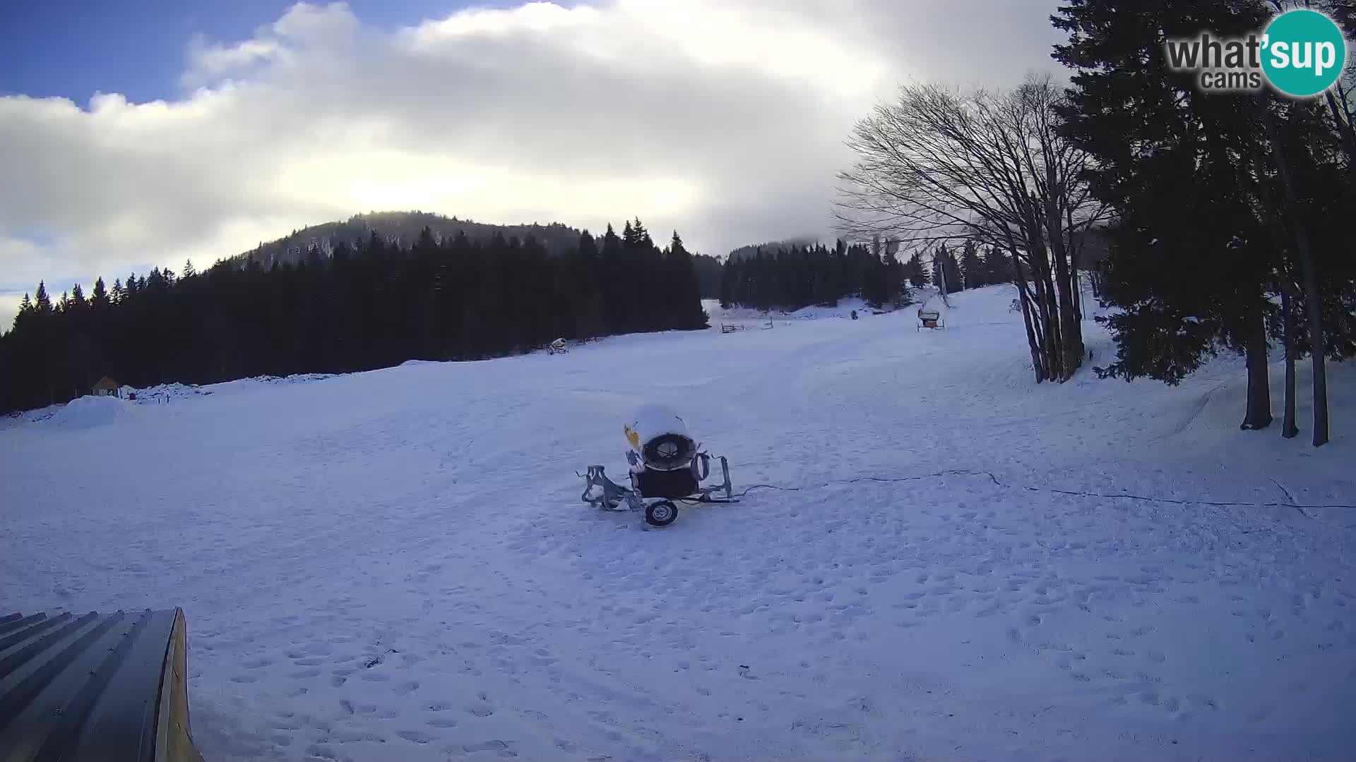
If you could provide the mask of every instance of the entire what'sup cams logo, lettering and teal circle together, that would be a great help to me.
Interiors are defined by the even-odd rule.
[[[1307,8],[1287,11],[1260,34],[1242,38],[1169,39],[1168,65],[1193,72],[1207,92],[1257,91],[1269,83],[1291,98],[1311,98],[1333,87],[1347,65],[1347,39],[1326,15]]]

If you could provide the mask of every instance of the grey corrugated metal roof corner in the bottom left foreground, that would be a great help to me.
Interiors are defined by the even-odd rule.
[[[0,617],[0,762],[201,759],[183,659],[179,609]]]

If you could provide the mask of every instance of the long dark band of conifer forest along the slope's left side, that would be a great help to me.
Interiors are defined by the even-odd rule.
[[[0,367],[11,369],[0,374],[0,411],[68,401],[104,376],[209,384],[704,328],[700,289],[678,233],[660,249],[639,220],[620,236],[610,225],[597,239],[583,232],[556,256],[532,237],[438,241],[424,229],[403,248],[373,230],[268,270],[248,258],[202,273],[188,263],[57,297],[39,283],[0,336]]]

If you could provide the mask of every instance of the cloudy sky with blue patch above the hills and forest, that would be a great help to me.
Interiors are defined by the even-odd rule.
[[[9,0],[0,327],[152,266],[420,209],[721,255],[830,237],[853,122],[1056,71],[1056,0]]]

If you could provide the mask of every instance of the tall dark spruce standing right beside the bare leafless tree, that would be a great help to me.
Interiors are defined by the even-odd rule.
[[[1121,313],[1098,319],[1119,358],[1097,373],[1176,384],[1220,342],[1248,357],[1243,428],[1271,423],[1276,251],[1242,171],[1262,142],[1258,99],[1200,92],[1168,68],[1163,45],[1201,28],[1242,37],[1267,16],[1245,0],[1067,0],[1052,18],[1069,34],[1055,58],[1077,72],[1066,134],[1096,157],[1093,193],[1119,216],[1105,292]]]

